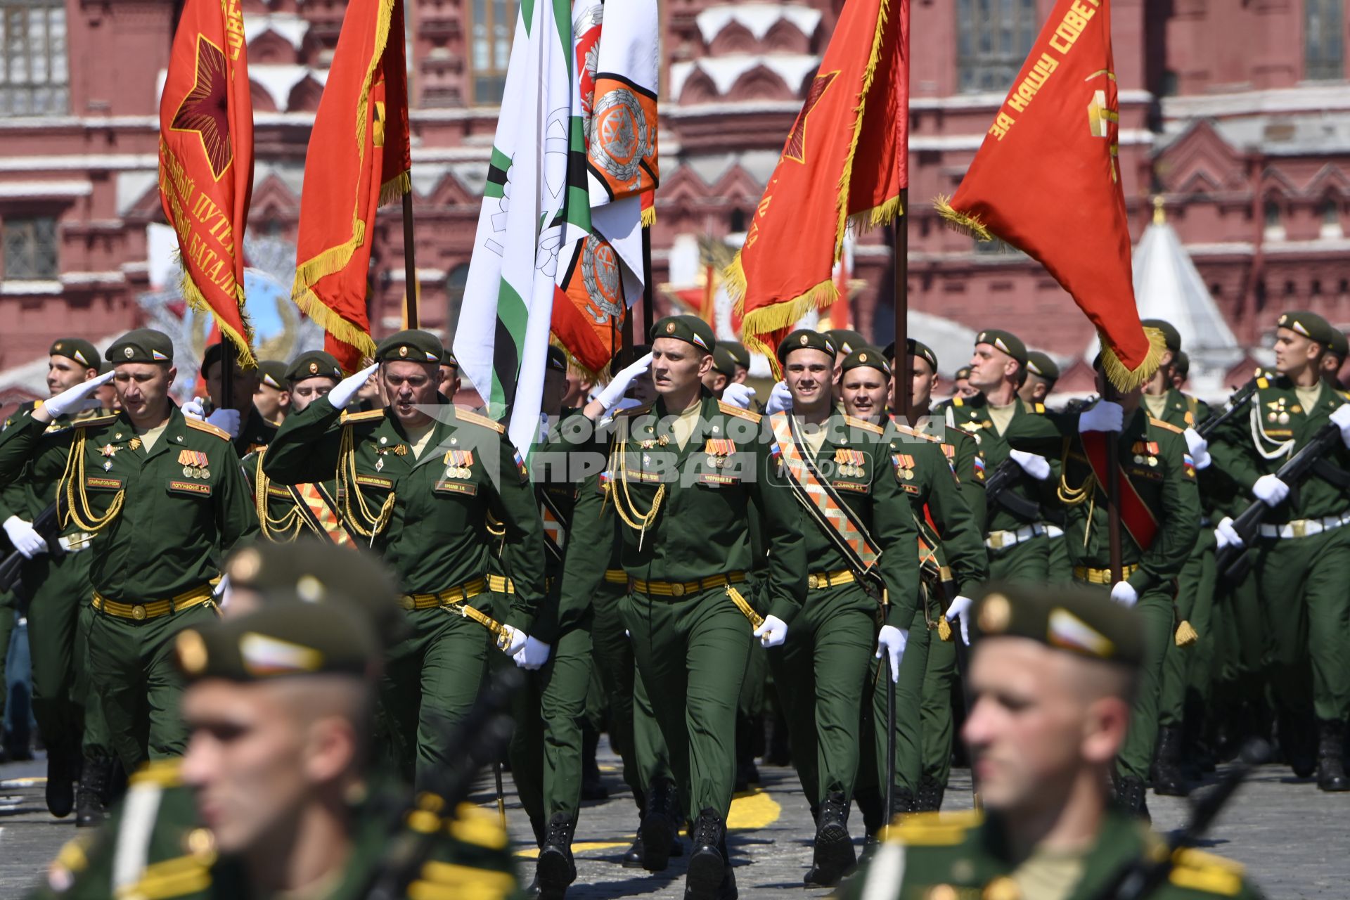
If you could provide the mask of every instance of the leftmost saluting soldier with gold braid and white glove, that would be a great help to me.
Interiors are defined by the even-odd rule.
[[[177,370],[167,335],[139,329],[108,347],[113,374],[70,387],[0,434],[0,482],[20,471],[57,483],[66,513],[96,534],[89,551],[89,672],[128,772],[180,756],[182,683],[174,636],[215,617],[215,560],[252,537],[258,519],[230,436],[185,418],[170,399]],[[123,412],[47,430],[115,379]],[[27,468],[26,468],[27,467]]]

